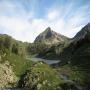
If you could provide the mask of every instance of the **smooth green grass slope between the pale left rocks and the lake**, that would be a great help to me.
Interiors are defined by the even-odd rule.
[[[11,66],[13,67],[13,71],[18,77],[20,77],[33,64],[32,61],[26,60],[24,57],[16,54],[8,54],[4,58],[4,61],[6,60],[10,62]]]

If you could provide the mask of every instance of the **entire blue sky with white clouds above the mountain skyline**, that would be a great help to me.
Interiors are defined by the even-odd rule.
[[[0,0],[0,34],[33,42],[47,27],[74,37],[90,22],[90,0]]]

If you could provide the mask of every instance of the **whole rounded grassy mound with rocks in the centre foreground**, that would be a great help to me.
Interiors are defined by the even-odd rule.
[[[26,80],[26,81],[25,81]],[[21,78],[20,86],[24,86],[25,90],[55,90],[65,81],[58,76],[56,70],[42,62],[34,64]],[[24,83],[26,82],[26,83]],[[40,89],[38,89],[40,85]]]

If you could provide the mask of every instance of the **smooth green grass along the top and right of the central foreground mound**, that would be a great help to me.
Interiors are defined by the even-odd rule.
[[[40,63],[36,64],[36,66],[32,68],[32,72],[34,72],[34,73],[35,72],[40,72],[40,73],[45,72],[46,73],[45,75],[43,75],[43,74],[41,75],[41,77],[43,77],[43,79],[47,79],[50,82],[57,81],[57,83],[58,83],[59,78],[58,78],[56,72],[46,64],[40,64]]]

